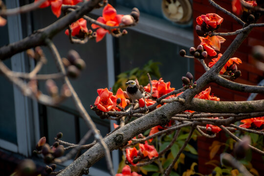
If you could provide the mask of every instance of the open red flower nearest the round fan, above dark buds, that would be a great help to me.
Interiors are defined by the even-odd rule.
[[[205,22],[208,27],[217,28],[223,22],[223,18],[215,13],[210,13],[197,17],[196,22],[198,25],[202,25],[202,22]]]

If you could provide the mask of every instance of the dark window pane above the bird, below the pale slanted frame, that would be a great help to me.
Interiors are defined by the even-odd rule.
[[[179,56],[179,50],[186,47],[166,42],[148,35],[129,30],[129,34],[118,39],[121,72],[143,67],[149,60],[160,62],[160,73],[172,87],[181,88],[181,76],[187,71],[194,73],[193,59]],[[184,42],[184,41],[183,41]]]

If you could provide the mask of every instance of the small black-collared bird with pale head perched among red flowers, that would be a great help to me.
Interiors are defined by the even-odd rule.
[[[145,110],[147,111],[147,105],[146,105],[146,101],[145,101],[145,94],[147,92],[145,92],[145,89],[143,88],[143,86],[139,86],[135,81],[130,80],[128,82],[126,82],[126,85],[128,85],[126,91],[129,95],[129,97],[132,100],[132,106],[135,100],[139,100],[140,98],[144,99],[144,103],[145,103]],[[132,106],[130,108],[130,110],[132,110]]]

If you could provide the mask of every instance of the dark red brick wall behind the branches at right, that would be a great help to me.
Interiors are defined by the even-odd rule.
[[[231,11],[231,0],[215,0],[219,5],[223,8]],[[194,46],[196,47],[200,44],[200,41],[197,37],[195,26],[196,26],[196,18],[201,14],[206,13],[217,13],[222,17],[224,20],[221,24],[220,29],[218,32],[232,32],[239,28],[241,25],[238,24],[233,20],[233,18],[227,16],[220,10],[212,7],[208,0],[193,0],[193,19],[194,19]],[[261,19],[264,22],[263,18]],[[221,44],[220,53],[223,53],[226,48],[231,44],[234,40],[235,36],[225,36],[226,41]],[[264,27],[255,28],[250,33],[249,37],[242,43],[239,49],[235,52],[233,57],[238,57],[242,60],[242,64],[238,65],[238,69],[241,70],[242,76],[235,80],[235,82],[248,84],[248,85],[257,85],[262,79],[264,79],[264,72],[257,69],[253,65],[253,58],[250,55],[251,48],[254,45],[263,45],[264,46]],[[216,57],[211,57],[216,58]],[[205,62],[208,64],[211,61],[211,58],[205,59]],[[204,73],[203,66],[195,60],[195,78],[196,80]],[[210,84],[212,91],[217,97],[221,99],[221,101],[245,101],[249,93],[238,92],[234,90],[229,90],[227,88],[220,87],[216,84]],[[258,95],[256,99],[264,99],[264,95]],[[214,140],[221,140],[225,142],[225,134],[220,132],[216,138],[208,139],[205,137],[198,138],[198,170],[199,173],[202,174],[210,174],[212,169],[214,168],[211,165],[206,165],[205,163],[208,162],[209,159],[209,147],[211,146]],[[264,162],[263,159],[259,154],[253,153],[252,164],[253,167],[256,168],[260,175],[264,172]],[[219,154],[216,155],[214,159],[219,160]]]

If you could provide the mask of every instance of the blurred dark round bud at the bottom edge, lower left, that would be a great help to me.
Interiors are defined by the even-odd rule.
[[[17,167],[16,176],[34,176],[36,165],[31,159],[24,159]]]

